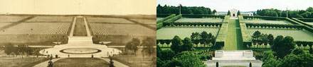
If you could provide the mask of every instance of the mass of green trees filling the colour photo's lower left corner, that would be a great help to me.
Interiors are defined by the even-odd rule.
[[[189,37],[171,39],[171,49],[161,50],[157,45],[157,67],[205,67],[201,56],[193,52],[193,42]]]

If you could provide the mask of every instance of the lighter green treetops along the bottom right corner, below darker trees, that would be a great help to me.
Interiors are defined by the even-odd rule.
[[[277,53],[277,52],[276,52]],[[303,49],[293,49],[291,54],[278,58],[275,52],[265,51],[262,56],[262,67],[312,67],[313,56]]]

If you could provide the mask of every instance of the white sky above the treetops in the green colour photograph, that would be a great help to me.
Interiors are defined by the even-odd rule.
[[[228,11],[232,8],[239,11],[257,11],[264,8],[280,10],[305,10],[313,7],[313,0],[157,0],[157,5],[164,6],[204,6],[216,11]]]

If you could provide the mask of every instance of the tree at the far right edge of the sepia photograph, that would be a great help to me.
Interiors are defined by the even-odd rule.
[[[146,52],[151,56],[151,54],[155,53],[154,45],[156,44],[156,39],[153,39],[152,37],[147,37],[146,39],[142,40],[142,52]]]

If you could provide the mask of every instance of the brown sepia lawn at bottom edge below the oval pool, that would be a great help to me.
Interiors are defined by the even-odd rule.
[[[53,67],[109,67],[109,63],[97,58],[66,58],[55,61]]]

